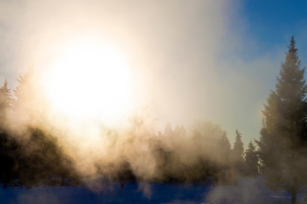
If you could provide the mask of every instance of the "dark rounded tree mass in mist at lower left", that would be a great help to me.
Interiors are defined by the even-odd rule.
[[[29,138],[19,148],[17,160],[21,183],[35,184],[56,175],[61,182],[52,184],[64,185],[66,176],[74,176],[73,164],[58,146],[55,137],[40,128],[27,128],[25,134]]]

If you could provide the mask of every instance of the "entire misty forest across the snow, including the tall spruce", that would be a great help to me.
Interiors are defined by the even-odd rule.
[[[51,122],[57,117],[39,94],[33,69],[20,75],[15,90],[5,80],[0,88],[0,181],[26,186],[91,180],[235,186],[239,177],[261,175],[270,189],[287,190],[296,203],[307,183],[307,85],[295,45],[292,36],[276,90],[263,106],[260,139],[250,141],[246,150],[237,129],[231,148],[217,124],[200,122],[187,131],[167,123],[156,131],[142,115],[131,116],[126,129],[102,127],[94,141],[98,149],[79,138],[80,149],[67,137],[72,131]]]

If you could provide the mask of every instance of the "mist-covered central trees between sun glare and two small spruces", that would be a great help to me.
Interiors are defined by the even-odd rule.
[[[110,180],[232,182],[230,143],[219,125],[198,123],[191,134],[183,126],[173,130],[170,123],[163,133],[137,128],[110,144],[116,159],[107,156],[97,161],[101,175]]]

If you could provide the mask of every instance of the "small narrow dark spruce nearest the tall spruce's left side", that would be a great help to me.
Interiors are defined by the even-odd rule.
[[[245,174],[249,177],[256,177],[258,175],[258,154],[256,147],[251,141],[248,144],[248,149],[245,151]]]

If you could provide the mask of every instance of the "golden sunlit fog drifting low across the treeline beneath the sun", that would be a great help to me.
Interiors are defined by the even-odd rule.
[[[29,171],[28,179],[32,168],[40,168],[37,165],[51,166],[46,175],[77,174],[85,184],[97,179],[189,183],[205,182],[208,176],[217,183],[236,179],[229,167],[230,143],[221,126],[198,122],[187,131],[168,123],[161,132],[146,108],[131,115],[126,127],[108,127],[88,118],[72,121],[54,111],[37,86],[36,73],[31,68],[20,76],[17,100],[6,109],[3,122],[3,130],[17,139],[21,158],[33,159],[28,169],[20,170]],[[24,165],[23,160],[17,165]]]

